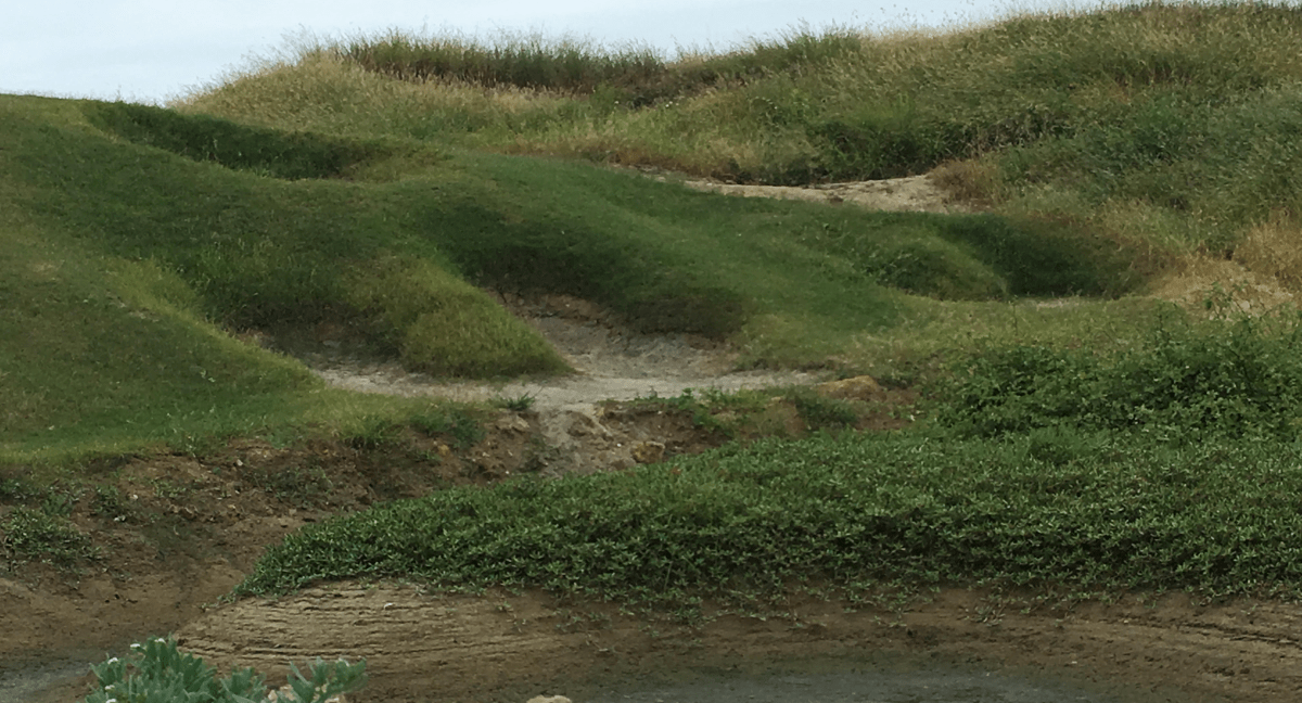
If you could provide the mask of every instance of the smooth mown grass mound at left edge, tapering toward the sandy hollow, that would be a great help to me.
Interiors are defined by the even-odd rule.
[[[233,417],[319,389],[301,366],[203,322],[193,292],[151,262],[87,256],[10,225],[0,279],[7,449],[109,448],[142,430],[184,444],[198,426],[246,427]]]

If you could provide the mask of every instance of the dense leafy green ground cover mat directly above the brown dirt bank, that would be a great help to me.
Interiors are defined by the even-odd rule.
[[[271,548],[236,594],[354,577],[671,604],[803,579],[1295,594],[1298,452],[1065,427],[768,440],[335,518]]]

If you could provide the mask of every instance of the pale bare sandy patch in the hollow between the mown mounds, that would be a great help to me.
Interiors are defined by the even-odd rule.
[[[733,371],[736,354],[689,335],[641,335],[591,302],[569,296],[503,298],[574,367],[575,374],[509,383],[445,381],[404,370],[396,362],[365,361],[319,346],[303,354],[327,383],[362,393],[443,397],[458,401],[529,398],[549,448],[549,473],[592,473],[638,463],[637,448],[665,441],[664,427],[612,423],[602,404],[684,392],[779,385],[819,380],[798,371]],[[644,423],[643,423],[644,424]]]

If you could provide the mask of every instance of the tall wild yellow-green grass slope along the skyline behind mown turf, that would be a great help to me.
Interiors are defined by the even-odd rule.
[[[1144,3],[936,33],[789,33],[673,60],[397,31],[301,49],[180,108],[773,184],[949,163],[960,191],[1008,211],[1263,268],[1299,232],[1295,5]],[[1267,221],[1290,234],[1254,234]]]

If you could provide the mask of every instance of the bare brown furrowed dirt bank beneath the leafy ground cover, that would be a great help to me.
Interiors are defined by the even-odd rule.
[[[523,703],[540,693],[586,700],[665,682],[690,686],[719,672],[902,665],[934,669],[934,687],[944,693],[958,663],[1003,676],[1006,686],[1088,691],[1087,700],[1302,699],[1297,605],[1200,605],[1173,595],[1022,613],[992,603],[965,590],[898,612],[846,612],[842,603],[810,600],[793,603],[785,618],[724,616],[695,629],[546,594],[431,595],[395,583],[336,583],[220,608],[180,637],[204,659],[272,670],[286,659],[366,656],[372,683],[350,696],[359,703]],[[818,699],[816,690],[809,699]]]

